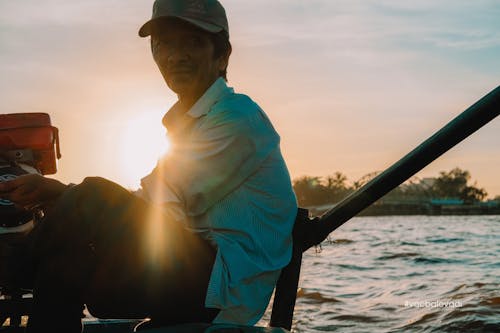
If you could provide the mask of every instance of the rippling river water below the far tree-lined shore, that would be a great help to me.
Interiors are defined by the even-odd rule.
[[[500,216],[354,218],[304,254],[293,331],[500,332],[499,228]]]

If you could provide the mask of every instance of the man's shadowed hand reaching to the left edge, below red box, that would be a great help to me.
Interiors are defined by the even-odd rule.
[[[0,199],[12,201],[17,206],[32,209],[56,200],[68,185],[37,174],[22,175],[0,182]]]

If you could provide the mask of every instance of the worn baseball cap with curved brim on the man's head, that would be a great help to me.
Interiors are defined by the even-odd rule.
[[[153,15],[139,29],[139,36],[151,35],[154,25],[168,17],[184,20],[212,33],[225,31],[229,36],[226,11],[217,0],[156,0]]]

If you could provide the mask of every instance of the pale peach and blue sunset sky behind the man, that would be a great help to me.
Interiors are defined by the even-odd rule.
[[[500,83],[500,2],[225,0],[228,79],[281,135],[293,178],[381,171]],[[136,188],[176,101],[137,31],[144,0],[0,0],[1,113],[46,112],[55,178]],[[500,119],[417,174],[454,167],[500,195]]]

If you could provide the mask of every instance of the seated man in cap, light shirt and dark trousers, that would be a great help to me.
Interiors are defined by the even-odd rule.
[[[36,175],[0,184],[0,198],[46,207],[30,235],[31,332],[79,331],[83,304],[98,317],[159,325],[253,325],[290,260],[290,177],[264,112],[226,85],[222,5],[157,0],[139,35],[151,36],[153,59],[178,96],[163,119],[171,151],[141,189]]]

